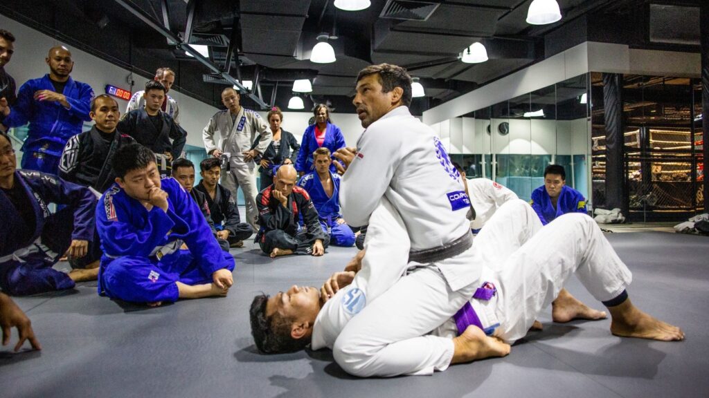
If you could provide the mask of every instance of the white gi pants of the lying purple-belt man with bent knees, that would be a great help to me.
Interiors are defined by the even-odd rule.
[[[484,259],[481,279],[494,283],[494,305],[501,326],[495,335],[514,343],[527,334],[538,314],[556,299],[576,274],[598,301],[618,297],[632,274],[588,215],[569,213],[540,228],[534,210],[523,200],[502,205],[474,239]]]

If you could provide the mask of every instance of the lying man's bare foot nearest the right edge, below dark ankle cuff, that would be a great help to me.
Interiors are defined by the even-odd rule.
[[[613,318],[610,333],[615,336],[659,341],[684,340],[682,329],[640,311],[632,305],[630,299],[608,310]]]

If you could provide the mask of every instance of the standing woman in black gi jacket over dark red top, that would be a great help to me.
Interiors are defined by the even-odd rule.
[[[255,161],[259,161],[260,164],[261,188],[259,188],[259,191],[263,191],[273,183],[273,176],[276,174],[274,168],[278,169],[278,166],[281,166],[281,164],[295,163],[298,157],[298,150],[301,149],[301,145],[298,144],[296,137],[290,132],[281,130],[283,113],[281,113],[280,108],[277,106],[271,108],[267,118],[269,125],[271,125],[271,131],[273,132],[273,140],[268,148],[266,148],[266,152],[261,155],[260,161],[259,159],[255,159]],[[257,144],[258,141],[254,142],[251,148],[255,148]]]

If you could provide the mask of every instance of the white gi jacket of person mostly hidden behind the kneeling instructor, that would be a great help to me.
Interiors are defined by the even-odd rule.
[[[519,199],[517,194],[488,178],[468,180],[468,194],[475,209],[471,229],[481,229],[503,203]]]

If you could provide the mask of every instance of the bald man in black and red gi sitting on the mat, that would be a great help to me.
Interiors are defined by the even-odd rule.
[[[322,256],[330,237],[320,228],[318,211],[308,192],[296,186],[298,172],[292,164],[281,166],[273,184],[256,197],[261,228],[256,242],[272,258],[287,254]],[[303,215],[304,227],[298,224]]]

